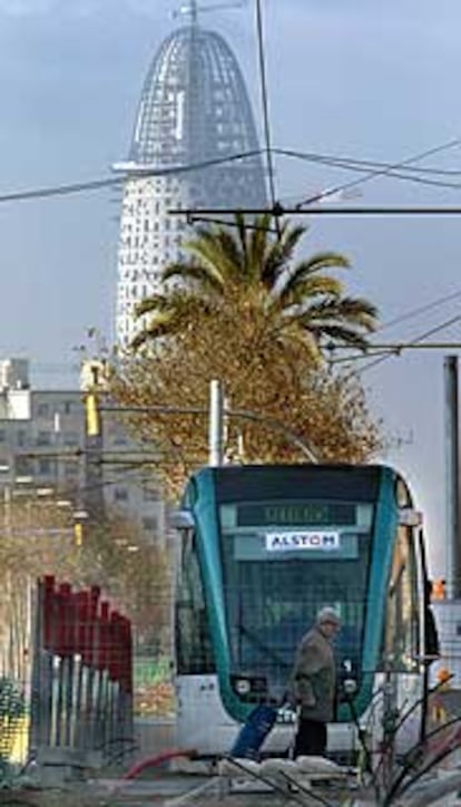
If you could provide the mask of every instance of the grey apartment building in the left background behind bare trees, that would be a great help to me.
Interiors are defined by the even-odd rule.
[[[115,415],[91,445],[84,390],[32,389],[27,359],[0,360],[0,499],[48,494],[80,515],[119,514],[163,543],[165,503],[146,457]]]

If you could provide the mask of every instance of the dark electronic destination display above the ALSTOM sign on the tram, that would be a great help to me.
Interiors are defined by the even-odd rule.
[[[347,526],[355,521],[355,505],[342,502],[269,502],[237,507],[239,527]]]

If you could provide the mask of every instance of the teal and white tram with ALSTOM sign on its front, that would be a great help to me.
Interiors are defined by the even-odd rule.
[[[174,521],[180,746],[202,757],[228,753],[251,712],[266,704],[277,719],[264,751],[285,752],[294,731],[284,694],[295,646],[325,605],[343,623],[340,679],[343,671],[350,692],[353,681],[328,726],[328,752],[344,759],[356,750],[357,721],[381,725],[384,696],[393,713],[410,712],[400,721],[402,743],[421,736],[426,566],[421,515],[398,471],[206,467],[190,477]]]

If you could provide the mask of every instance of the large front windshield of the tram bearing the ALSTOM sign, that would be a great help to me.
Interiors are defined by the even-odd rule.
[[[339,664],[360,679],[374,506],[277,500],[219,506],[224,595],[234,675],[279,698],[294,649],[324,605],[337,609]]]

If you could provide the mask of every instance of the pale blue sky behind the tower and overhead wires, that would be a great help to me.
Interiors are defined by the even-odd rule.
[[[110,165],[128,154],[145,74],[178,25],[173,12],[179,6],[0,0],[0,200],[110,175]],[[461,136],[457,0],[263,0],[262,8],[274,146],[398,164]],[[236,54],[261,129],[254,0],[203,13],[202,22],[223,33]],[[461,172],[461,146],[414,165]],[[360,176],[277,158],[276,194],[296,204]],[[424,177],[461,181],[461,174]],[[458,205],[460,188],[381,176],[337,204]],[[89,328],[112,342],[118,206],[107,189],[0,203],[0,356],[30,357],[41,387],[76,385]],[[346,254],[353,264],[349,288],[379,305],[384,324],[431,305],[383,328],[376,341],[413,340],[458,315],[459,216],[303,221],[305,252]],[[434,339],[457,343],[460,336],[461,319]],[[426,515],[434,573],[444,571],[448,353],[458,350],[406,350],[374,368],[355,363],[383,420],[390,444],[383,458],[408,476]]]

